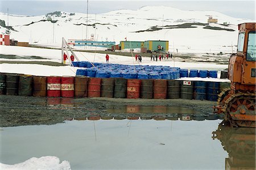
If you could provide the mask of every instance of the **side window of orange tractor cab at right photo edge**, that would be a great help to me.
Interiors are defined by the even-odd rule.
[[[255,31],[250,31],[247,43],[247,61],[256,61],[256,34]]]

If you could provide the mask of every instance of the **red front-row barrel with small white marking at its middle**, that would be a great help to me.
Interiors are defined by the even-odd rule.
[[[127,98],[139,98],[140,86],[141,86],[141,80],[128,79],[127,80]]]

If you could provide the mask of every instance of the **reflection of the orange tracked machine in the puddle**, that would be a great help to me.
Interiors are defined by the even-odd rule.
[[[229,157],[225,169],[255,169],[255,128],[232,128],[222,122],[213,132]]]

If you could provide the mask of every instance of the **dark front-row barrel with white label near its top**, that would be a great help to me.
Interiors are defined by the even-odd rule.
[[[193,99],[193,82],[182,81],[180,85],[180,98]]]

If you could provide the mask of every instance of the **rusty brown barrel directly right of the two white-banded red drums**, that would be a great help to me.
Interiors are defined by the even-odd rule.
[[[75,97],[87,97],[88,77],[75,77]]]

